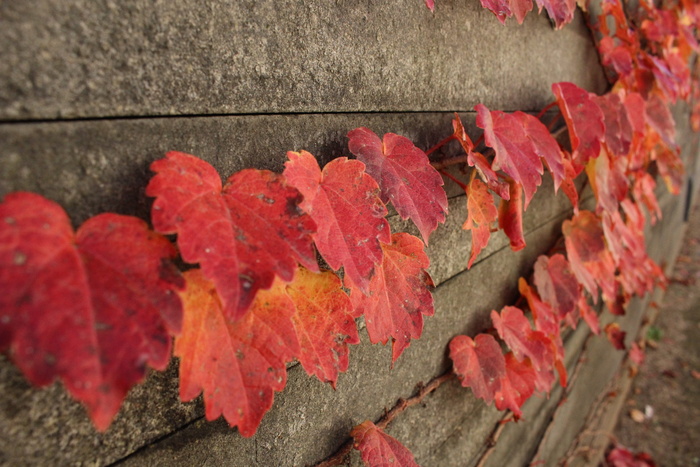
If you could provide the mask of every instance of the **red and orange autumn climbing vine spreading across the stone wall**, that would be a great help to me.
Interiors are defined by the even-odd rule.
[[[537,4],[557,28],[573,18],[573,2]],[[531,0],[482,5],[502,22],[522,22],[533,7]],[[170,152],[151,165],[152,228],[105,213],[74,231],[56,203],[7,195],[0,350],[37,386],[60,379],[99,430],[147,368],[165,369],[174,353],[180,398],[203,394],[207,419],[223,415],[252,436],[285,386],[287,363],[296,360],[335,387],[359,343],[358,318],[372,343],[391,342],[392,363],[420,337],[434,313],[424,246],[447,215],[441,173],[466,194],[471,267],[495,230],[513,250],[526,246],[523,212],[546,169],[574,208],[562,225],[564,246],[538,258],[531,280],[520,279],[521,300],[491,312],[493,329],[449,344],[462,385],[518,419],[532,394],[567,384],[563,329],[583,319],[598,333],[599,300],[620,315],[632,296],[664,285],[643,231],[647,216],[652,223],[661,216],[652,174],[672,193],[683,183],[668,104],[694,98],[692,123],[700,126],[697,66],[691,73],[700,7],[642,1],[633,16],[627,20],[619,0],[603,0],[602,14],[587,16],[609,69],[608,93],[555,83],[552,105],[538,116],[478,104],[483,134],[475,141],[458,115],[452,133],[425,152],[405,137],[357,128],[348,133],[356,159],[321,168],[310,153],[289,152],[281,174],[245,169],[225,183],[201,159]],[[562,119],[567,145],[551,134]],[[440,148],[454,141],[463,154],[440,159]],[[466,180],[442,171],[457,164],[468,169]],[[583,172],[592,211],[579,209],[575,180]],[[389,204],[422,238],[390,231]],[[624,346],[614,323],[605,332]],[[363,460],[389,460],[377,457],[383,452],[415,465],[383,432],[389,421],[353,429]]]

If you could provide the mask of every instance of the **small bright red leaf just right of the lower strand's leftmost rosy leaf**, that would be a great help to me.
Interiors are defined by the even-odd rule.
[[[535,392],[535,369],[530,359],[518,360],[513,352],[505,355],[506,376],[501,380],[501,390],[495,397],[498,410],[510,410],[515,419],[523,416],[520,408]]]

